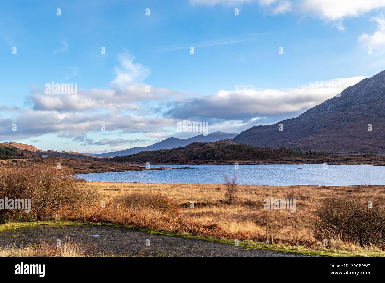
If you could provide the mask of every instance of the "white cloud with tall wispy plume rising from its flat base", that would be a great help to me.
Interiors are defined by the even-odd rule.
[[[124,52],[117,58],[121,68],[115,68],[116,77],[111,82],[110,89],[78,89],[77,95],[72,97],[70,94],[45,94],[43,87],[32,86],[32,94],[28,99],[33,109],[60,112],[96,109],[141,111],[138,102],[185,95],[184,92],[144,84],[142,80],[146,79],[151,71],[142,64],[134,63],[135,57],[132,54]]]

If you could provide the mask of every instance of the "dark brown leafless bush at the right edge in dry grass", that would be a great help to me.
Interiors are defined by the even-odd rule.
[[[383,202],[356,193],[325,199],[316,210],[316,239],[340,239],[360,246],[385,244],[385,209]]]

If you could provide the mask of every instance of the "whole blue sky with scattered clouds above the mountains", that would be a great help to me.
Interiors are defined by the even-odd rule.
[[[183,119],[240,132],[298,116],[384,69],[384,9],[382,0],[2,1],[0,142],[107,152],[195,136],[176,131]],[[77,96],[45,94],[52,81],[77,84]],[[329,89],[309,91],[315,82]]]

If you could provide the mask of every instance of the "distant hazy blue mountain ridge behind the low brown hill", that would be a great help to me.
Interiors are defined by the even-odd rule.
[[[178,139],[176,137],[169,137],[168,139],[164,139],[163,141],[152,144],[151,146],[141,146],[141,147],[132,147],[130,149],[122,150],[122,151],[114,151],[107,153],[88,153],[92,156],[124,156],[130,155],[141,151],[151,151],[158,149],[168,149],[174,147],[187,146],[192,142],[213,142],[219,141],[221,139],[232,139],[238,135],[238,133],[225,133],[225,132],[213,132],[208,134],[207,136],[198,135],[195,137],[190,137],[189,139]]]

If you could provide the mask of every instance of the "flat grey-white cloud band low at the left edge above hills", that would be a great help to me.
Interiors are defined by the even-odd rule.
[[[109,113],[62,113],[57,111],[19,110],[14,118],[0,118],[0,139],[37,137],[56,133],[59,137],[77,137],[85,132],[105,131],[123,133],[166,132],[165,128],[175,124],[175,119],[143,117],[132,114]],[[12,124],[17,131],[12,131]]]

